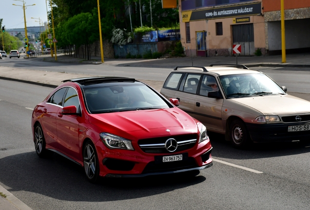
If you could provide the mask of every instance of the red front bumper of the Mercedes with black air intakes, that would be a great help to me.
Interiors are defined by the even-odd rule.
[[[200,145],[202,144],[202,145]],[[209,168],[212,163],[210,141],[192,149],[173,154],[146,154],[142,151],[102,150],[98,148],[100,176],[143,177],[174,174]],[[120,153],[122,152],[122,153]],[[158,162],[158,157],[183,155],[181,161]]]

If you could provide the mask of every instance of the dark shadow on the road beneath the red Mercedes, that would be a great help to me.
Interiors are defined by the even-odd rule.
[[[39,158],[35,152],[0,159],[0,180],[10,192],[35,192],[66,201],[116,201],[147,197],[204,182],[193,174],[144,178],[101,178],[97,184],[86,179],[83,168],[54,154]]]

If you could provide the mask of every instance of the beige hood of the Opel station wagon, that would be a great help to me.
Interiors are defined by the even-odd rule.
[[[231,100],[250,106],[264,115],[310,113],[310,102],[292,95],[266,95]]]

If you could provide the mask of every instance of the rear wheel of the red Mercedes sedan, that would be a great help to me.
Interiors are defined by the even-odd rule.
[[[45,139],[41,125],[35,125],[35,149],[39,157],[49,157],[53,153],[45,148]]]

